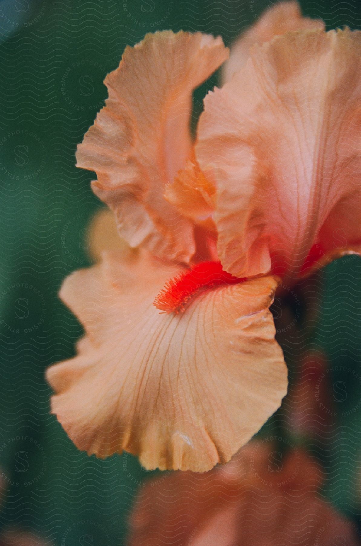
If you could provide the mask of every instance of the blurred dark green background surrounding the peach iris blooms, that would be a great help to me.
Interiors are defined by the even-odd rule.
[[[106,98],[105,75],[146,32],[200,30],[221,34],[229,45],[273,4],[0,1],[2,528],[29,529],[57,546],[119,546],[134,495],[149,478],[131,455],[102,461],[78,452],[49,414],[44,380],[47,366],[74,354],[82,333],[57,293],[69,272],[90,264],[86,228],[100,201],[90,191],[94,175],[75,168],[75,150]],[[357,0],[301,4],[328,28],[359,28]],[[195,93],[196,112],[216,82],[212,76]],[[308,344],[327,355],[352,408],[361,397],[354,379],[361,375],[361,259],[339,260],[320,278],[322,311]],[[291,335],[285,354],[292,360],[296,353]],[[291,369],[291,383],[292,377]],[[328,472],[323,493],[360,524],[361,408],[349,413],[338,416],[313,450]]]

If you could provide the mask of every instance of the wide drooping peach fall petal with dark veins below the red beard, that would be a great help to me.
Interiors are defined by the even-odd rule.
[[[139,455],[146,468],[205,471],[228,461],[287,388],[268,306],[277,278],[208,289],[183,314],[152,305],[175,270],[108,257],[65,281],[87,333],[52,366],[52,412],[79,449]]]

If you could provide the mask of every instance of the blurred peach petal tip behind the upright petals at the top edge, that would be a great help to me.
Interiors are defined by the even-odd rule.
[[[229,60],[222,67],[223,82],[229,81],[244,67],[252,45],[261,45],[279,34],[312,28],[325,30],[325,23],[321,19],[302,17],[298,2],[277,2],[268,7],[255,25],[241,34],[232,46]]]

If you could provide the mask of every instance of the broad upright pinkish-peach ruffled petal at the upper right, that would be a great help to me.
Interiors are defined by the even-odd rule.
[[[217,188],[218,254],[233,275],[296,277],[327,244],[335,207],[359,198],[360,53],[359,31],[278,36],[206,97],[196,156]]]

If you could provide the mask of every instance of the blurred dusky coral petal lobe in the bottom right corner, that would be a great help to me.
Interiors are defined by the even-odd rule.
[[[226,537],[224,542],[222,534]],[[217,542],[217,537],[222,542]],[[330,546],[338,543],[358,546],[357,526],[327,502],[316,495],[297,495],[291,490],[278,495],[262,495],[260,490],[249,491],[238,506],[233,504],[223,508],[217,518],[207,521],[203,529],[195,532],[194,538],[182,544]],[[176,544],[181,546],[181,543]]]

